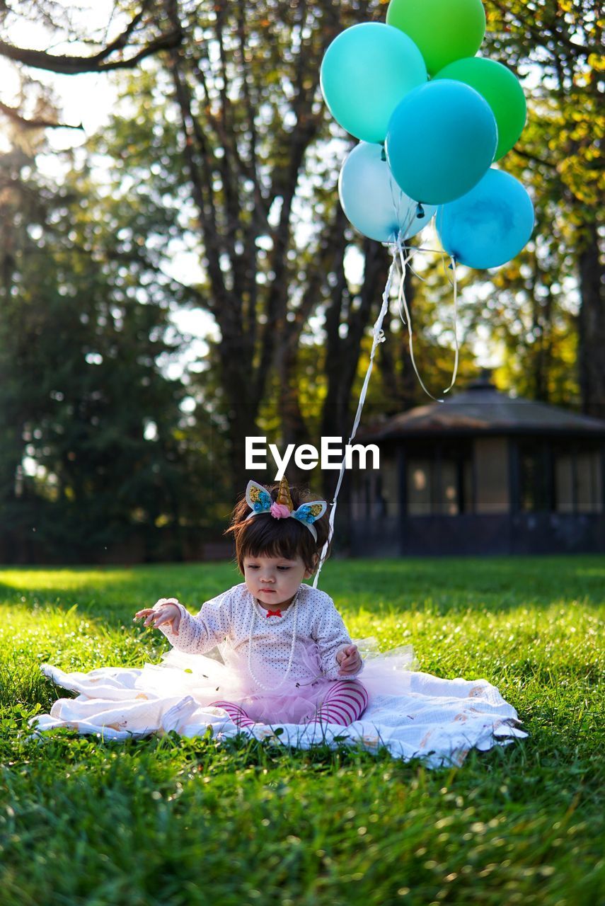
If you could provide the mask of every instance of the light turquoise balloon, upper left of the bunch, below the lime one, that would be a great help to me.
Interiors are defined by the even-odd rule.
[[[427,67],[416,44],[380,22],[352,25],[337,35],[320,72],[331,115],[364,141],[384,141],[401,98],[425,82]]]

